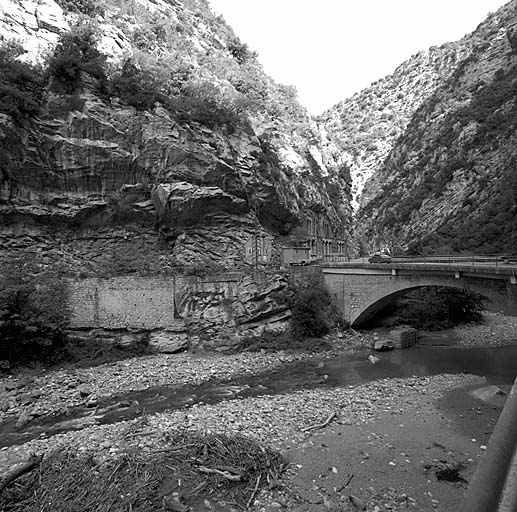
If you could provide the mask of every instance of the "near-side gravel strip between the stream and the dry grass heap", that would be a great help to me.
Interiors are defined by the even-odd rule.
[[[130,450],[156,450],[167,444],[177,429],[205,433],[241,433],[272,448],[285,450],[312,434],[304,427],[322,423],[336,412],[337,424],[375,422],[383,414],[403,414],[417,404],[432,403],[448,389],[472,382],[468,375],[438,375],[383,379],[357,387],[302,390],[277,396],[233,399],[216,405],[195,405],[182,411],[158,413],[113,425],[37,439],[0,451],[0,471],[30,453],[74,447],[101,464],[106,458]]]

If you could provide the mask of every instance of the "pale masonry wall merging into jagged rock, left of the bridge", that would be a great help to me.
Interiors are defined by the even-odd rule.
[[[288,278],[282,273],[226,273],[69,282],[72,329],[190,327],[206,336],[239,326],[282,325],[289,318]]]

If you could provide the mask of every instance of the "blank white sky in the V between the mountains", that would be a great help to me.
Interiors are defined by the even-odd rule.
[[[472,32],[507,0],[210,0],[311,114]]]

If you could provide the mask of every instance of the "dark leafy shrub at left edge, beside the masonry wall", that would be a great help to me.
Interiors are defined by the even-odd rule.
[[[56,274],[38,273],[27,257],[0,276],[0,359],[46,359],[63,341],[68,320],[65,284]]]

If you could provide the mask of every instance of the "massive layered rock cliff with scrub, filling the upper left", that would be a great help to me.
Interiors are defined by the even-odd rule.
[[[0,38],[4,255],[235,268],[311,210],[349,231],[325,131],[205,0],[5,0]]]

